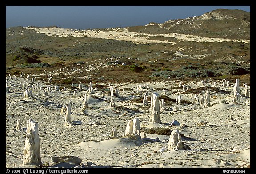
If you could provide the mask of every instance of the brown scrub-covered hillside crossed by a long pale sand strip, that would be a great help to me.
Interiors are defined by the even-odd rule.
[[[154,71],[182,74],[183,70],[201,69],[218,71],[213,77],[249,74],[250,12],[217,9],[201,16],[127,28],[6,29],[7,74],[42,71],[41,65],[54,69],[76,62],[100,63],[106,57],[140,63],[144,66],[140,73],[145,76]]]

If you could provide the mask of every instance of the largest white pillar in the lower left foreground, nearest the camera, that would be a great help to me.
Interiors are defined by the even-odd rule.
[[[22,165],[42,165],[40,156],[40,138],[38,134],[38,123],[32,119],[28,120],[26,130],[25,147],[23,150]]]

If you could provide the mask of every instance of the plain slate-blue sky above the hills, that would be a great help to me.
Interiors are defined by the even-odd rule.
[[[6,6],[6,28],[15,26],[94,29],[163,23],[172,19],[200,16],[215,9],[250,6]]]

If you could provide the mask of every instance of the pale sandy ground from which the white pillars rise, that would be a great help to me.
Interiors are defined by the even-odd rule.
[[[64,72],[63,72],[64,73]],[[116,107],[109,107],[109,88],[95,89],[88,92],[89,84],[83,84],[82,89],[51,91],[48,96],[40,89],[32,89],[32,98],[24,98],[24,87],[19,83],[26,81],[26,86],[32,88],[31,78],[36,77],[39,87],[47,85],[40,81],[42,75],[10,79],[7,77],[11,92],[6,92],[6,168],[27,168],[22,166],[23,150],[28,119],[39,124],[40,155],[44,167],[83,167],[83,168],[247,168],[250,167],[250,97],[241,95],[239,103],[233,103],[232,87],[220,87],[231,92],[214,92],[210,90],[211,106],[205,108],[193,101],[193,94],[184,90],[178,91],[179,82],[166,80],[161,82],[130,82],[112,84],[120,88],[119,97],[114,97]],[[19,81],[18,81],[19,79]],[[189,88],[203,85],[199,81],[181,81]],[[207,86],[214,82],[210,79]],[[222,82],[217,81],[222,86]],[[231,82],[230,84],[233,84]],[[92,82],[93,85],[96,82]],[[101,84],[101,83],[100,83]],[[57,85],[57,84],[56,84]],[[75,84],[78,86],[78,84]],[[108,85],[104,83],[101,85]],[[136,91],[137,86],[147,86]],[[132,102],[152,92],[176,99],[178,95],[192,104],[166,103],[167,111],[160,113],[160,124],[148,123],[150,102],[148,107],[142,103]],[[123,94],[123,89],[125,92]],[[131,95],[131,89],[133,93]],[[240,84],[241,94],[244,87]],[[205,91],[203,91],[204,93]],[[82,99],[87,93],[88,108],[81,112]],[[78,124],[65,126],[65,114],[60,114],[61,107],[71,101],[71,121]],[[150,100],[149,100],[150,101]],[[176,107],[177,111],[170,108]],[[128,121],[134,116],[139,117],[141,139],[125,137]],[[21,119],[21,130],[16,130],[17,119]],[[170,123],[177,120],[180,125]],[[198,125],[200,121],[208,122]],[[168,135],[146,134],[151,127],[166,127],[178,129],[182,141],[190,150],[168,150]],[[112,128],[117,130],[117,137],[110,136]],[[158,139],[158,141],[157,141]],[[165,149],[165,150],[164,150]],[[53,162],[52,157],[75,156],[82,160],[80,164],[70,162]]]

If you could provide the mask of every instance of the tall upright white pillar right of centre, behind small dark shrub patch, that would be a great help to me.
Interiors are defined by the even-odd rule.
[[[160,120],[159,95],[156,92],[151,95],[149,123],[162,123]]]

